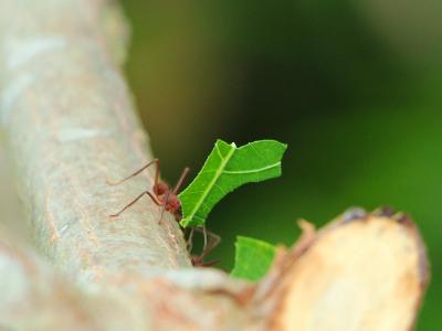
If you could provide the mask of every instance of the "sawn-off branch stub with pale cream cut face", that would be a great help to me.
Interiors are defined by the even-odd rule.
[[[413,328],[429,270],[407,215],[351,209],[317,233],[303,226],[304,237],[280,253],[255,295],[264,307],[274,303],[276,330]]]

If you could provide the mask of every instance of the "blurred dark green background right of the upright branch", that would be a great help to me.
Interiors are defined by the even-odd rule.
[[[291,245],[295,221],[351,205],[411,214],[432,281],[418,330],[442,327],[442,2],[124,0],[129,84],[162,175],[200,169],[214,140],[288,143],[283,177],[212,212],[212,258],[236,235]]]

